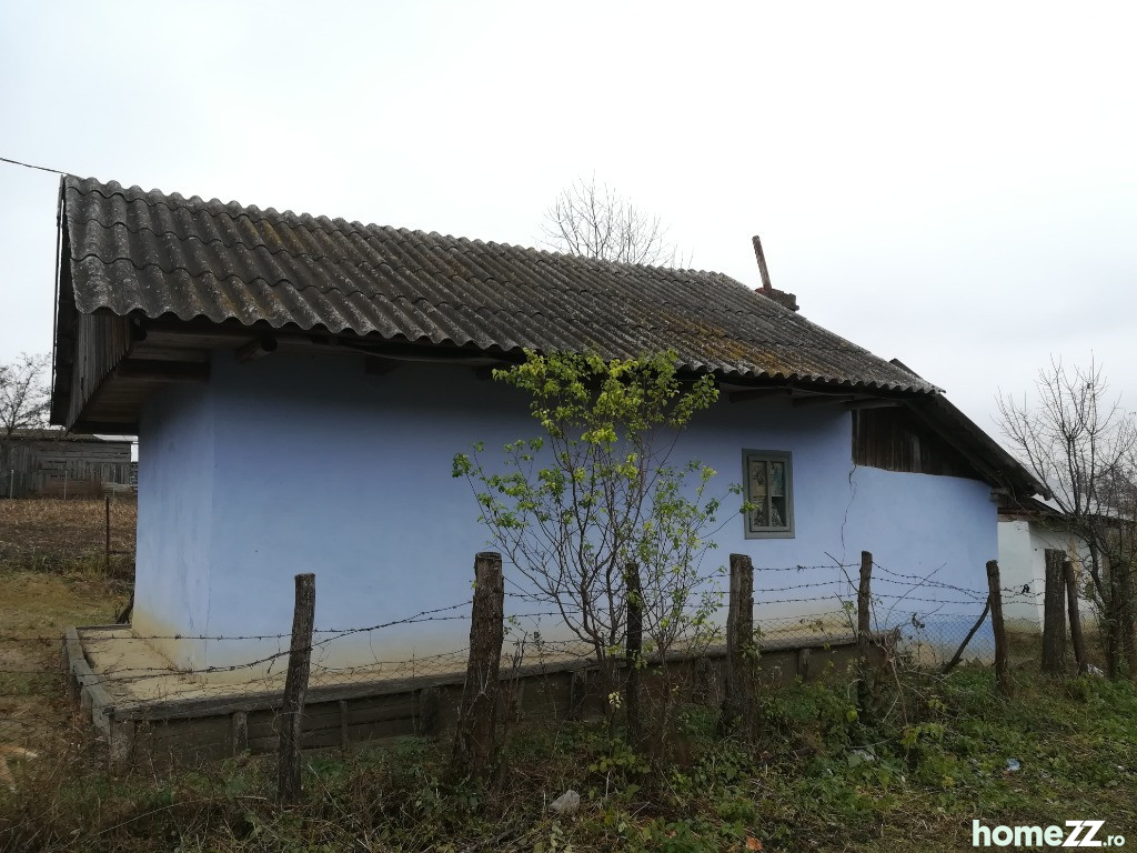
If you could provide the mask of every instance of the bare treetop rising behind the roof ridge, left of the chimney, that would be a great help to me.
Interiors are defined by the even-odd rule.
[[[658,216],[633,205],[596,175],[579,177],[545,213],[546,245],[570,255],[621,264],[682,266]]]

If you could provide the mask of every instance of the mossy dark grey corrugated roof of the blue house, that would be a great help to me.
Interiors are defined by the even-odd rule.
[[[721,273],[612,264],[63,179],[82,313],[235,317],[491,353],[674,349],[721,376],[937,389]]]

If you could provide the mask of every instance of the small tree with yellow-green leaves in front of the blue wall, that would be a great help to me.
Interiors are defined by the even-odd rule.
[[[528,353],[493,375],[529,397],[541,434],[506,445],[499,465],[487,463],[482,444],[454,457],[491,539],[532,597],[595,654],[609,694],[629,572],[641,590],[645,655],[665,661],[680,641],[708,641],[720,603],[699,575],[721,507],[707,494],[715,472],[671,463],[682,429],[719,392],[709,376],[680,379],[675,362],[673,353],[628,361]]]

